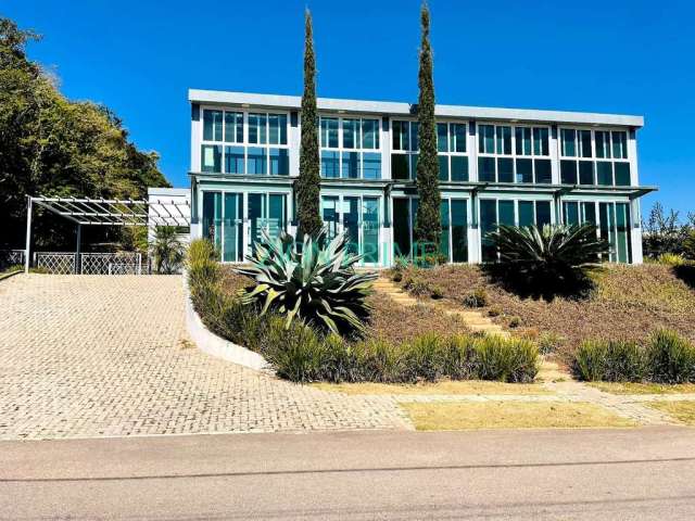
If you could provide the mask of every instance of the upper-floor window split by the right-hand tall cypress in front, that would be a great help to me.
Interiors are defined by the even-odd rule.
[[[467,124],[440,122],[437,124],[439,178],[442,181],[468,180]],[[394,120],[391,125],[391,177],[415,179],[419,125],[417,122]]]

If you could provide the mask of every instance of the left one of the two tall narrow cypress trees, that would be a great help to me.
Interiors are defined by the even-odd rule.
[[[304,93],[302,96],[302,143],[300,177],[296,180],[296,217],[300,234],[316,234],[324,226],[320,208],[320,164],[316,123],[316,59],[312,30],[312,13],[305,13]]]

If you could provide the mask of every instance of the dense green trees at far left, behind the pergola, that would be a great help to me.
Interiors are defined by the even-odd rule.
[[[0,247],[24,244],[27,195],[142,199],[149,186],[168,186],[154,152],[141,152],[108,107],[71,102],[56,80],[28,60],[39,37],[0,18]],[[35,243],[74,243],[74,225],[37,208]],[[85,242],[119,241],[116,227],[89,227]]]

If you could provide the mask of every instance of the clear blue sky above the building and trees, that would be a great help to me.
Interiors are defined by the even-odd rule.
[[[29,55],[55,69],[65,94],[115,110],[187,186],[187,89],[301,94],[305,5],[318,96],[417,99],[418,0],[5,0],[0,14],[45,36]],[[646,208],[695,211],[695,2],[430,8],[438,102],[642,114],[641,181],[660,187]]]

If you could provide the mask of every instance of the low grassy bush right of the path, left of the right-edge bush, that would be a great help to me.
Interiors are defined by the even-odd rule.
[[[634,342],[590,340],[574,355],[574,371],[590,382],[637,382],[645,373],[644,355]]]

